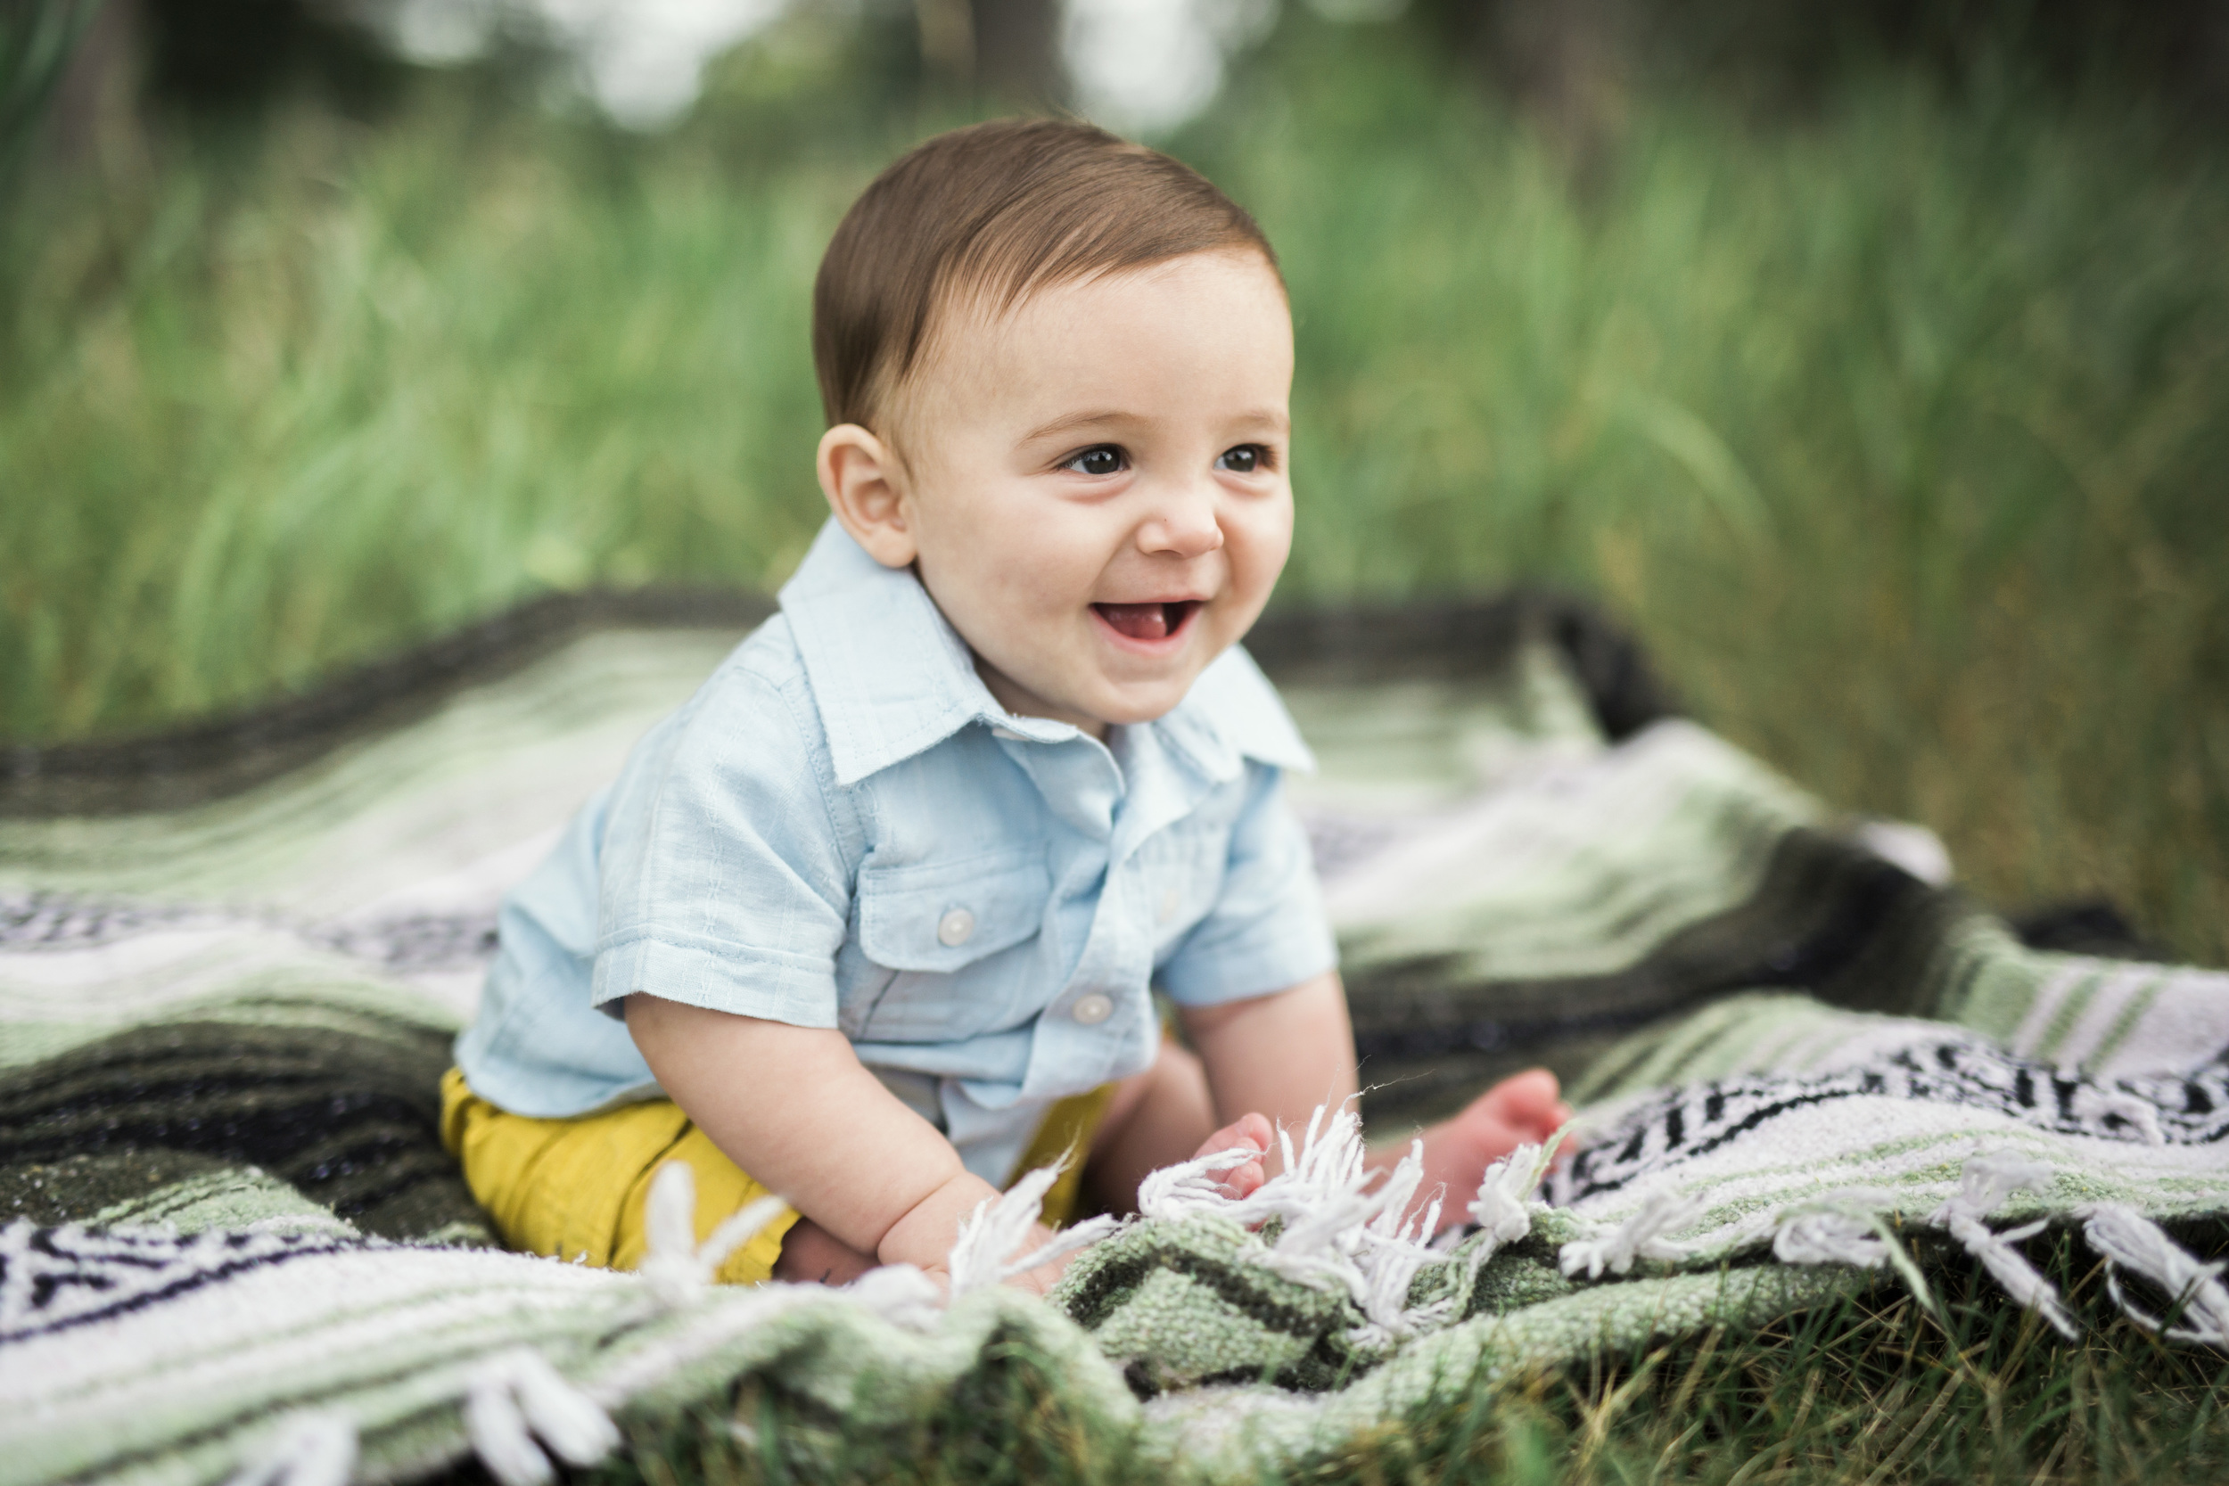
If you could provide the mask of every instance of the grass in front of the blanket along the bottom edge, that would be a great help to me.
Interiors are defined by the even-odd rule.
[[[2229,1473],[2222,1359],[2104,1321],[2102,1277],[2073,1265],[2064,1241],[2048,1268],[2100,1323],[2075,1343],[2015,1310],[1964,1257],[1930,1268],[1948,1332],[1888,1283],[1761,1335],[1710,1332],[1478,1392],[1469,1408],[1386,1421],[1333,1459],[1262,1479],[2178,1486]],[[1128,1437],[1063,1410],[1048,1370],[1016,1348],[992,1348],[943,1415],[905,1437],[829,1435],[814,1417],[747,1384],[733,1415],[642,1439],[595,1479],[1166,1486]]]

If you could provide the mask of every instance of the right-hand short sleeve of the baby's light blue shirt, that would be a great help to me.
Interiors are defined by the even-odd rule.
[[[1177,1005],[1208,1007],[1282,991],[1337,962],[1308,833],[1284,798],[1284,773],[1248,762],[1221,893],[1161,965],[1161,989]]]

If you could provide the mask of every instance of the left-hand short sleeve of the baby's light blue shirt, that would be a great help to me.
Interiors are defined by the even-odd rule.
[[[800,688],[729,666],[629,757],[604,824],[593,1005],[646,991],[836,1025],[851,871]]]

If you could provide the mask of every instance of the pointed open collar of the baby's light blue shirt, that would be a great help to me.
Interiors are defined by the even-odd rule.
[[[885,568],[831,517],[796,577],[782,584],[782,615],[820,708],[836,782],[858,784],[972,722],[1028,742],[1081,733],[1048,717],[1014,717],[976,675],[974,657],[921,579]],[[1199,673],[1152,724],[1210,778],[1235,778],[1244,757],[1279,769],[1315,769],[1284,702],[1242,648]]]

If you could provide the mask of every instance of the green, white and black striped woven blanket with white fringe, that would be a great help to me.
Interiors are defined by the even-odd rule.
[[[1527,1063],[1567,1159],[1404,1223],[1355,1121],[1244,1203],[1148,1183],[1050,1303],[985,1212],[909,1270],[720,1290],[684,1187],[640,1274],[497,1252],[437,1078],[502,891],[760,615],[553,599],[194,733],[0,753],[0,1486],[506,1486],[742,1388],[896,1437],[1025,1341],[1092,1428],[1253,1479],[1518,1372],[1756,1326],[1926,1263],[2062,1330],[2229,1343],[2229,976],[2111,913],[2013,927],[1921,829],[1837,815],[1538,595],[1288,615],[1373,1138]],[[2075,1310],[2031,1263],[2109,1263]],[[727,1234],[733,1241],[736,1234]],[[992,1259],[983,1259],[990,1254]]]

